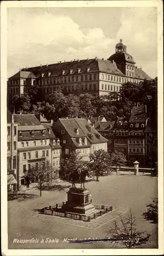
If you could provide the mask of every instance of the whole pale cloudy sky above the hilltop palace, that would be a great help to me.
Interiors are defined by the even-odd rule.
[[[123,39],[137,67],[157,76],[157,8],[8,8],[8,77],[19,69],[109,58]]]

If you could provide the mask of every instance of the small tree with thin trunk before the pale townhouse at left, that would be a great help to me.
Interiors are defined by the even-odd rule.
[[[54,170],[49,161],[38,163],[37,166],[32,165],[30,169],[24,172],[27,182],[37,182],[40,190],[40,197],[42,195],[43,184],[53,179]]]

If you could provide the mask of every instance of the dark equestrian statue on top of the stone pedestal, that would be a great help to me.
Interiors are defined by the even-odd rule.
[[[86,181],[86,176],[89,177],[89,173],[87,169],[84,170],[76,170],[75,172],[71,173],[69,175],[69,181],[72,181],[72,186],[76,187],[76,183],[78,181],[81,182],[81,188],[82,188],[82,184],[83,184],[83,188],[85,188],[85,181]]]

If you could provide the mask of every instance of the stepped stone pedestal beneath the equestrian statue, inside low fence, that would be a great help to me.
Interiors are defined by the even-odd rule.
[[[64,210],[82,215],[90,215],[96,211],[95,206],[91,203],[89,190],[79,187],[72,187],[67,192],[67,202]]]

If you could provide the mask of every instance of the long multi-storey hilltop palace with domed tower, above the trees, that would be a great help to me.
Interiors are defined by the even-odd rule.
[[[38,84],[45,99],[55,90],[72,94],[107,95],[119,92],[125,82],[139,83],[151,79],[137,68],[122,40],[108,59],[83,59],[21,69],[8,80],[8,95],[30,93]]]

